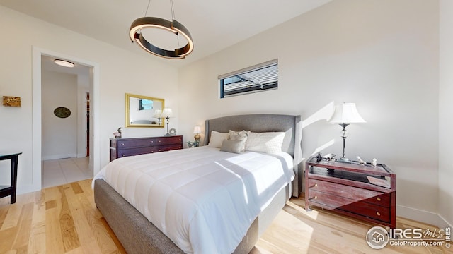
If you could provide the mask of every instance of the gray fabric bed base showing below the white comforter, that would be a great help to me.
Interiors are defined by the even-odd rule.
[[[290,184],[277,193],[270,205],[255,219],[234,253],[251,251],[258,237],[285,206],[289,193],[292,193]],[[94,201],[127,253],[183,253],[173,241],[102,179],[94,182]]]

